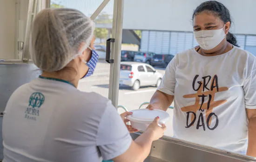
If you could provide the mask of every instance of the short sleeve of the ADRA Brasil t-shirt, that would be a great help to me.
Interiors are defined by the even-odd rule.
[[[111,160],[125,153],[130,147],[132,138],[115,107],[108,103],[97,133],[97,146],[103,160]]]

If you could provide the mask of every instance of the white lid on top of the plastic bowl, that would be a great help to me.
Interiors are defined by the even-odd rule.
[[[148,110],[148,109],[138,109],[138,110],[133,110],[132,115],[129,115],[127,118],[131,121],[138,121],[138,122],[152,122],[156,117],[160,118],[161,121],[168,120],[170,117],[169,114],[165,111],[162,110]]]

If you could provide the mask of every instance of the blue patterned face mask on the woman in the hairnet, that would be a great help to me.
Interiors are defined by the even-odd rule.
[[[91,48],[89,48],[89,49],[92,50]],[[94,70],[96,68],[98,59],[99,59],[99,55],[97,54],[97,52],[95,50],[92,50],[91,59],[88,62],[84,61],[84,63],[88,66],[89,70],[86,73],[86,75],[84,75],[84,77],[82,77],[82,78],[86,78],[86,77],[89,77],[94,74]]]

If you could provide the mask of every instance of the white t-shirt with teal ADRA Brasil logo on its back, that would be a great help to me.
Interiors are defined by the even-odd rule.
[[[4,162],[101,162],[123,154],[132,138],[108,99],[38,78],[9,99],[3,140]]]

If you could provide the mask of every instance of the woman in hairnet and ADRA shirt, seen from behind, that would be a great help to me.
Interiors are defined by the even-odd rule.
[[[155,118],[133,141],[127,121],[108,99],[77,90],[98,61],[93,32],[93,21],[74,9],[46,9],[36,16],[30,54],[42,74],[7,103],[4,162],[142,162],[162,137],[166,127]]]

